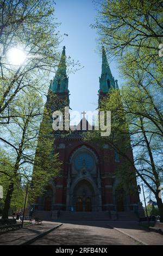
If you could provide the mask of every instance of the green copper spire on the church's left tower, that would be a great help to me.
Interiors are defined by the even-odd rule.
[[[60,63],[58,66],[58,70],[55,73],[54,80],[51,81],[49,89],[52,90],[53,93],[65,93],[68,91],[68,77],[66,74],[66,52],[65,46],[63,47]]]

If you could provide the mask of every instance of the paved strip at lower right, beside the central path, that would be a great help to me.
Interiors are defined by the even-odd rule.
[[[143,242],[145,245],[163,245],[163,235],[148,231],[137,221],[112,221],[108,225]]]

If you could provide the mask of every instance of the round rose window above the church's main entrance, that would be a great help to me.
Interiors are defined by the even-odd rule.
[[[88,153],[79,153],[74,159],[74,166],[80,170],[82,167],[86,167],[87,170],[91,170],[95,164],[93,157]]]

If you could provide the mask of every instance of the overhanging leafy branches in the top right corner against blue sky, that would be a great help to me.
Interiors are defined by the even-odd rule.
[[[104,0],[98,4],[93,27],[110,56],[122,56],[129,51],[135,59],[158,65],[162,7],[162,1]]]

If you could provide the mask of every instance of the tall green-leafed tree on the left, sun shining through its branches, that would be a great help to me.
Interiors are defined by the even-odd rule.
[[[33,190],[29,189],[32,202],[59,170],[57,155],[53,154],[50,113],[43,111],[42,98],[47,93],[50,72],[58,68],[62,38],[53,1],[4,0],[0,7],[0,141],[12,161],[11,169],[0,171],[8,183],[3,209],[6,218],[14,190],[22,187],[19,175],[22,182],[33,180]],[[13,62],[13,54],[20,54],[22,60]],[[69,57],[67,65],[71,64],[76,65]],[[48,125],[41,125],[39,132],[42,117]],[[38,138],[39,154],[35,157]],[[33,174],[34,163],[37,171]]]

